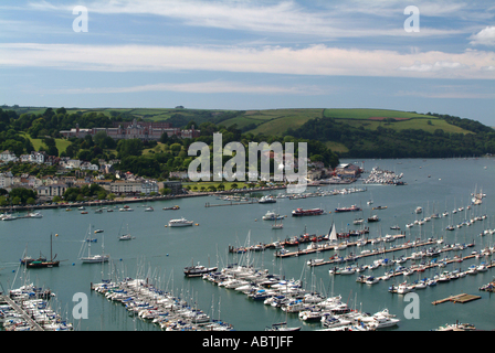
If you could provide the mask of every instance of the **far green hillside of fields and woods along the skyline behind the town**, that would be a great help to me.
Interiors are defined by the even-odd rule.
[[[6,109],[6,107],[3,107]],[[41,115],[46,108],[9,107],[18,115]],[[266,109],[207,110],[176,108],[67,108],[81,127],[104,127],[109,120],[169,121],[175,127],[194,124],[211,136],[212,124],[244,133],[247,140],[270,137],[318,140],[340,157],[453,157],[495,153],[495,131],[483,124],[447,115],[388,109]],[[85,117],[89,117],[85,119]],[[59,119],[60,120],[60,119]],[[60,120],[62,121],[62,120]],[[67,125],[76,119],[65,119]],[[60,125],[60,124],[59,124]],[[87,125],[87,126],[83,126]],[[55,132],[52,126],[50,132]],[[69,126],[65,126],[69,128]],[[31,131],[31,130],[28,130]],[[52,135],[53,136],[53,135]],[[56,136],[55,136],[56,137]],[[32,141],[38,146],[38,141]],[[66,146],[57,148],[65,150]]]

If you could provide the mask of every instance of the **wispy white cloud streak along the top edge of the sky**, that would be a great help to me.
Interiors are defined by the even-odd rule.
[[[315,8],[292,0],[98,0],[86,4],[89,13],[156,15],[176,19],[189,26],[202,26],[246,31],[254,33],[274,33],[292,36],[316,36],[334,40],[339,38],[407,36],[402,23],[403,2],[380,1],[361,3],[355,1]],[[54,6],[48,1],[31,2],[32,9],[45,11],[72,11],[80,3]],[[432,6],[424,3],[426,13],[452,15],[457,6]],[[398,11],[398,9],[400,11]],[[365,18],[356,20],[356,14]],[[370,17],[371,15],[371,17]],[[377,21],[377,17],[388,21]],[[462,29],[428,29],[420,35],[455,35],[466,33]]]

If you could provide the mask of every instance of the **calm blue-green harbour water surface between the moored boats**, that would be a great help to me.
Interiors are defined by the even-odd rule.
[[[355,161],[348,161],[355,162]],[[360,163],[361,161],[359,161]],[[191,263],[200,261],[203,265],[219,265],[241,261],[243,258],[228,254],[228,246],[242,246],[250,235],[251,244],[271,243],[303,233],[304,228],[310,234],[326,234],[334,221],[338,231],[355,228],[352,221],[357,214],[328,214],[336,206],[361,205],[362,217],[371,214],[371,206],[367,201],[372,199],[373,206],[386,205],[387,210],[373,211],[381,222],[370,224],[369,237],[380,234],[392,234],[390,226],[398,224],[406,229],[406,224],[415,220],[414,208],[422,206],[424,213],[451,212],[454,207],[466,206],[471,202],[471,193],[481,189],[487,196],[480,206],[473,206],[474,215],[487,214],[485,221],[475,222],[472,226],[456,228],[454,232],[445,232],[447,224],[452,223],[452,214],[446,218],[432,220],[424,226],[414,226],[407,229],[407,238],[441,237],[446,243],[476,242],[476,249],[492,245],[493,236],[481,237],[486,228],[494,228],[495,206],[494,176],[495,160],[493,159],[456,159],[456,160],[365,160],[365,168],[372,167],[404,173],[406,186],[362,185],[361,182],[354,186],[366,186],[366,192],[348,195],[309,197],[305,200],[280,199],[276,204],[252,204],[241,206],[210,207],[206,208],[206,202],[222,203],[215,197],[194,197],[191,200],[176,200],[167,202],[154,202],[150,205],[155,212],[145,212],[143,204],[133,204],[134,212],[95,214],[94,210],[82,215],[77,210],[65,212],[64,210],[42,211],[41,220],[18,220],[14,222],[0,222],[0,281],[4,290],[12,286],[18,288],[24,280],[39,286],[49,287],[56,293],[56,304],[63,314],[71,317],[74,302],[73,295],[85,292],[89,299],[89,318],[74,322],[80,330],[158,330],[157,327],[140,320],[134,321],[127,315],[127,311],[120,304],[107,301],[103,296],[89,290],[91,282],[99,282],[102,278],[108,278],[110,269],[118,276],[154,278],[160,288],[173,290],[190,301],[196,301],[198,307],[207,311],[214,319],[219,317],[239,331],[261,331],[272,323],[285,320],[280,309],[263,306],[262,302],[253,302],[244,295],[233,290],[218,288],[200,278],[187,279],[182,269]],[[486,169],[484,168],[486,167]],[[430,175],[430,178],[429,178]],[[366,176],[366,174],[365,174]],[[324,190],[340,189],[343,186],[328,185]],[[313,189],[309,188],[309,191]],[[275,191],[278,194],[284,191]],[[180,211],[162,211],[165,206],[179,205]],[[261,218],[268,210],[283,215],[289,215],[296,207],[323,207],[325,215],[316,217],[293,218],[288,216],[284,221],[282,231],[271,228],[270,222]],[[187,228],[165,227],[170,218],[186,217],[194,221],[199,226]],[[454,224],[464,221],[470,214],[454,215]],[[256,221],[257,220],[257,221]],[[104,250],[112,256],[112,266],[82,265],[77,259],[83,239],[92,225],[94,229],[102,228],[105,232],[95,235],[98,243],[93,244],[92,253]],[[130,242],[119,242],[118,235],[128,232],[136,238]],[[19,270],[19,259],[25,249],[28,255],[36,257],[41,250],[50,256],[50,234],[59,234],[53,237],[53,253],[57,259],[63,260],[59,268],[32,269],[25,275]],[[402,242],[402,240],[400,240]],[[390,246],[389,243],[388,246]],[[371,247],[371,245],[368,245]],[[360,249],[359,249],[360,250]],[[464,250],[464,256],[472,249]],[[254,265],[267,268],[272,274],[282,274],[287,278],[305,280],[306,288],[313,286],[328,296],[341,295],[350,306],[373,313],[388,308],[401,319],[400,325],[394,330],[431,330],[444,323],[454,323],[456,320],[475,324],[478,329],[493,330],[493,313],[495,298],[489,293],[480,292],[478,287],[493,279],[493,269],[476,276],[439,284],[436,287],[417,291],[420,297],[420,319],[406,320],[404,308],[409,304],[402,296],[391,295],[388,287],[393,279],[377,284],[372,287],[356,282],[354,276],[330,276],[328,266],[310,269],[306,261],[314,257],[331,256],[333,252],[319,255],[301,256],[286,259],[276,259],[273,250],[256,253]],[[394,256],[410,255],[406,252],[397,252]],[[447,256],[454,254],[447,253]],[[392,255],[391,255],[392,256]],[[389,256],[389,257],[391,257]],[[443,257],[443,255],[442,255]],[[375,257],[361,260],[360,264],[370,264]],[[489,259],[472,259],[461,265],[463,270],[472,264]],[[406,264],[409,266],[410,263]],[[454,265],[445,269],[453,270]],[[455,265],[455,268],[459,266]],[[19,270],[19,271],[18,271]],[[443,269],[442,269],[443,270]],[[375,272],[383,275],[383,269]],[[439,269],[426,270],[421,277],[433,277]],[[365,272],[366,274],[366,272]],[[13,282],[15,279],[15,282]],[[408,278],[409,281],[418,279],[417,275]],[[396,284],[402,278],[396,279]],[[465,304],[443,303],[432,306],[434,300],[443,299],[450,295],[475,293],[482,296],[481,300]],[[219,306],[220,302],[220,306]],[[213,307],[213,312],[212,312]],[[289,324],[303,325],[303,330],[319,329],[319,324],[304,324],[297,315],[288,315]],[[70,318],[70,321],[73,321]]]

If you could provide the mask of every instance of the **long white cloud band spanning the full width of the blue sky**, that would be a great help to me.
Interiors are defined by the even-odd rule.
[[[382,76],[494,79],[495,53],[365,51],[314,45],[305,49],[264,46],[152,46],[0,44],[0,67],[52,67],[73,71],[210,71],[322,76]],[[482,69],[485,67],[484,69]]]

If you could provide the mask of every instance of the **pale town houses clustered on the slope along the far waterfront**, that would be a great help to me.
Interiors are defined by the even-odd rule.
[[[180,195],[191,192],[190,188],[188,190],[182,185],[182,183],[190,182],[187,171],[170,172],[169,180],[157,181],[135,175],[129,171],[116,170],[114,165],[118,162],[118,160],[98,160],[98,164],[94,164],[69,157],[49,156],[45,151],[15,156],[15,153],[6,150],[0,153],[0,164],[2,165],[9,165],[9,163],[50,165],[56,168],[56,173],[38,178],[29,173],[14,175],[11,171],[1,172],[0,190],[4,190],[3,194],[10,194],[15,189],[24,189],[32,191],[31,195],[34,197],[25,200],[21,197],[15,201],[11,197],[8,201],[0,195],[0,197],[3,197],[0,200],[0,205],[39,205],[63,201],[82,202],[88,199],[87,196],[113,200],[115,197]],[[310,184],[345,184],[356,181],[361,172],[362,168],[355,164],[339,164],[331,169],[325,168],[322,162],[308,160],[307,180]],[[264,181],[264,184],[266,182],[270,181]],[[89,189],[92,185],[97,185],[97,188]],[[67,196],[67,192],[72,197]]]

